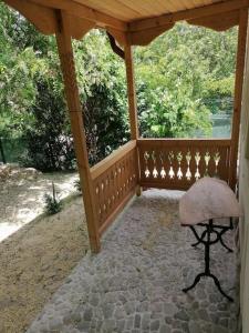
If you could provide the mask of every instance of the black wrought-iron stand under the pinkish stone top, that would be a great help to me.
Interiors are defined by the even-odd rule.
[[[189,290],[191,290],[193,287],[196,286],[196,284],[200,281],[200,278],[204,278],[204,276],[209,276],[209,278],[212,278],[216,286],[218,287],[219,292],[225,296],[227,297],[230,302],[234,302],[234,300],[228,296],[221,289],[220,286],[220,283],[219,283],[219,280],[214,275],[211,274],[210,272],[210,266],[209,266],[209,263],[210,263],[210,245],[217,243],[217,242],[221,242],[221,244],[228,249],[228,251],[232,251],[231,249],[229,249],[224,242],[222,242],[222,234],[227,231],[227,230],[230,230],[232,229],[232,220],[230,219],[230,225],[229,226],[226,226],[226,225],[215,225],[212,223],[212,219],[209,220],[208,223],[198,223],[197,225],[201,225],[201,226],[205,226],[206,230],[203,232],[201,236],[198,235],[198,233],[196,232],[195,228],[193,225],[188,225],[190,226],[191,231],[194,232],[195,236],[197,238],[198,242],[193,244],[193,245],[196,245],[196,244],[204,244],[205,245],[205,272],[204,273],[200,273],[196,276],[194,283],[188,286],[188,287],[185,287],[183,289],[183,291],[186,293],[188,292]],[[221,230],[220,232],[218,232],[216,229],[218,230]],[[216,234],[216,239],[215,240],[211,240],[211,233],[215,233]],[[205,240],[205,238],[207,236],[207,240]]]

